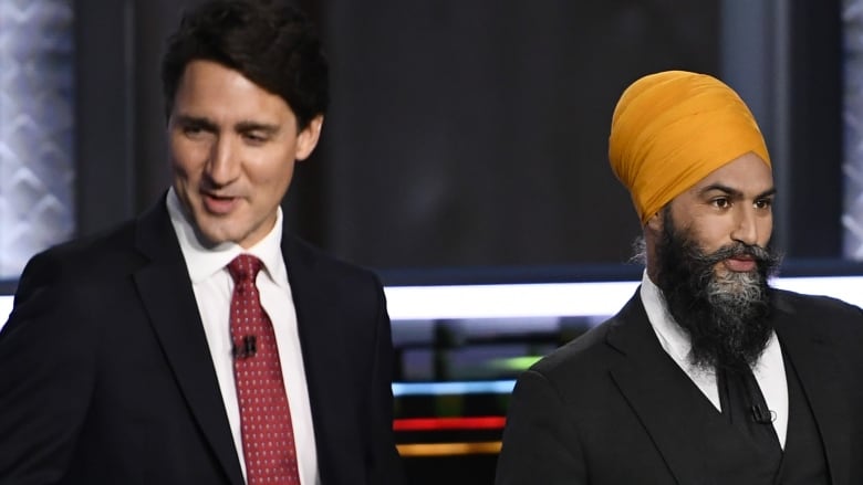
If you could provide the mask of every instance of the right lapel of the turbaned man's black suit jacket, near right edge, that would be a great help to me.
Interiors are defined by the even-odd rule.
[[[774,327],[786,358],[800,378],[809,405],[814,414],[833,484],[848,484],[851,443],[846,422],[852,415],[842,390],[842,369],[828,339],[813,323],[823,315],[797,313],[784,299],[777,301]]]

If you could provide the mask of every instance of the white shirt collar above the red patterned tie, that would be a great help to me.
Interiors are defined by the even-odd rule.
[[[179,198],[171,187],[167,194],[168,215],[177,233],[180,251],[186,260],[189,278],[193,284],[200,283],[217,272],[225,270],[235,257],[240,254],[251,254],[263,263],[264,273],[273,281],[287,281],[287,271],[282,260],[282,209],[277,208],[275,224],[272,230],[256,245],[243,249],[237,243],[225,242],[214,247],[204,246],[198,240],[191,222],[180,205]]]

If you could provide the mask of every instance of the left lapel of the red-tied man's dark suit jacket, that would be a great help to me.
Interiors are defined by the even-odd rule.
[[[164,201],[138,220],[136,245],[150,262],[135,273],[135,284],[168,363],[225,474],[242,484],[207,337]]]

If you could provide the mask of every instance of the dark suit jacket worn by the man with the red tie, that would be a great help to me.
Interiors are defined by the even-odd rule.
[[[321,481],[402,483],[382,286],[285,235]],[[0,334],[0,483],[241,484],[165,203],[34,256]]]

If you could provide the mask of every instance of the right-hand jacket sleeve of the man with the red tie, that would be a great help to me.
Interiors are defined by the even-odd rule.
[[[393,432],[393,339],[386,298],[381,283],[377,285],[377,321],[374,366],[371,388],[372,432],[367,449],[371,454],[370,484],[401,485],[405,482],[402,460],[396,451]]]

